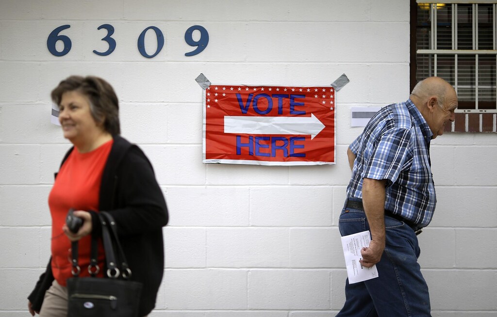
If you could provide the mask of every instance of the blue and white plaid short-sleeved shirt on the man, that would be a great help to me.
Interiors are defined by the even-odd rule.
[[[362,199],[363,178],[386,179],[385,209],[427,226],[436,205],[429,159],[432,135],[410,99],[382,108],[349,146],[356,160],[347,197]]]

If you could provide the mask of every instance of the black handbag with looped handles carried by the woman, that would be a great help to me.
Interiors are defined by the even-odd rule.
[[[81,271],[78,265],[78,242],[73,242],[74,277],[67,280],[68,317],[138,317],[143,285],[129,280],[131,270],[119,243],[114,219],[107,212],[100,212],[98,216],[102,223],[102,240],[107,264],[106,278],[95,277],[100,268],[97,264],[97,239],[94,235],[91,238],[88,266],[90,277],[78,277]]]

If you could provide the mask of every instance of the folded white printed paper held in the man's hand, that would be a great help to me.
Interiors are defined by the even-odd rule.
[[[370,280],[378,277],[376,264],[371,267],[364,267],[359,263],[362,258],[361,249],[368,247],[371,237],[369,231],[363,231],[341,237],[343,255],[347,266],[347,276],[349,284]]]

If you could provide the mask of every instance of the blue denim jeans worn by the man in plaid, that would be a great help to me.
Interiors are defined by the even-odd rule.
[[[364,210],[343,208],[338,229],[342,236],[369,230]],[[385,216],[385,251],[376,263],[379,277],[345,283],[345,304],[336,317],[426,317],[430,314],[428,286],[417,263],[419,246],[414,230]]]

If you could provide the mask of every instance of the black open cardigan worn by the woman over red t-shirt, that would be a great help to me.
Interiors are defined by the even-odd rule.
[[[166,200],[152,165],[142,150],[119,135],[105,163],[99,193],[99,210],[108,211],[117,224],[119,240],[132,270],[131,280],[143,283],[139,316],[155,307],[164,273],[162,227],[167,224]],[[73,151],[71,148],[62,164]],[[62,166],[61,164],[61,166]],[[92,214],[92,232],[101,234],[98,217]],[[46,290],[54,280],[51,259],[28,299],[39,311]]]

